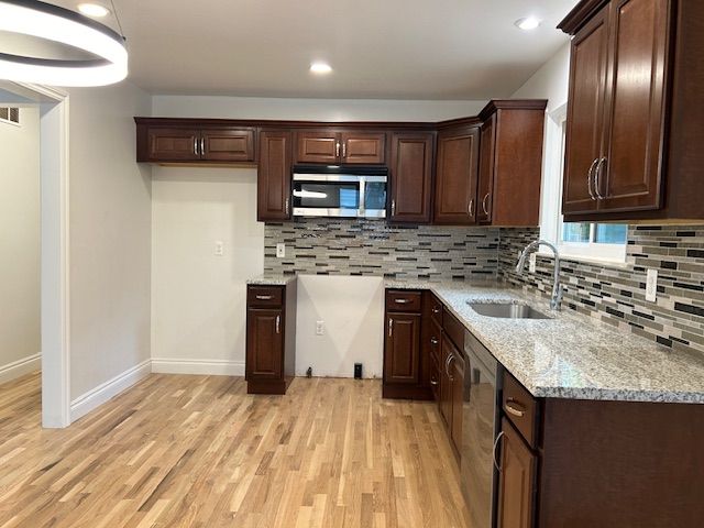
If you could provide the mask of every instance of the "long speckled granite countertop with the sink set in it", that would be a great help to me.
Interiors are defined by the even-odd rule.
[[[463,283],[387,280],[388,288],[432,290],[534,396],[704,404],[704,360],[520,289]],[[529,304],[551,319],[497,319],[469,301]]]

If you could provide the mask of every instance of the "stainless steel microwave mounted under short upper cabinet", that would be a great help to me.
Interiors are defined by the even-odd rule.
[[[296,165],[294,217],[386,218],[386,167]]]

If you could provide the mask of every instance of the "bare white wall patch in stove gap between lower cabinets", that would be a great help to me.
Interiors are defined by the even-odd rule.
[[[384,280],[381,277],[301,276],[298,278],[296,375],[382,377]],[[324,321],[323,336],[316,322]]]

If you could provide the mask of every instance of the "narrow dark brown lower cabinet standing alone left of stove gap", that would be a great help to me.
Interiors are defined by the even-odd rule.
[[[245,378],[249,394],[286,394],[295,375],[296,282],[249,286]]]

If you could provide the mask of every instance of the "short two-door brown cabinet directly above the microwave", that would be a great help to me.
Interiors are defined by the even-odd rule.
[[[378,165],[386,161],[383,132],[300,131],[296,163]]]

